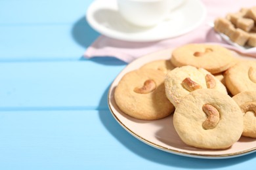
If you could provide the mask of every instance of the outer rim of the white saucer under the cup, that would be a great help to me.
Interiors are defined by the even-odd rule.
[[[164,40],[164,39],[172,39],[172,38],[175,38],[175,37],[179,37],[181,35],[184,35],[186,33],[189,33],[190,31],[193,31],[194,29],[196,29],[197,27],[200,26],[200,24],[203,23],[203,21],[205,20],[206,18],[206,14],[207,14],[207,9],[205,7],[205,5],[202,3],[202,1],[200,0],[184,0],[184,1],[193,1],[193,3],[197,3],[197,7],[198,9],[201,10],[202,12],[202,15],[201,15],[201,18],[194,22],[193,25],[191,25],[189,27],[189,29],[183,29],[182,31],[180,31],[178,34],[170,34],[170,35],[163,35],[161,37],[151,37],[148,36],[147,38],[143,38],[141,39],[140,37],[137,38],[137,37],[134,37],[134,36],[129,36],[129,35],[125,35],[123,33],[119,34],[120,32],[116,31],[112,31],[112,29],[108,29],[104,26],[102,26],[101,24],[98,24],[98,22],[96,22],[94,19],[93,19],[93,8],[94,6],[96,5],[96,3],[99,3],[99,1],[103,1],[103,0],[97,0],[97,1],[93,1],[93,3],[91,3],[91,5],[89,6],[89,8],[87,9],[87,12],[85,14],[85,19],[87,20],[88,24],[91,25],[91,27],[93,27],[93,29],[95,29],[96,31],[98,31],[98,33],[101,33],[102,35],[106,35],[107,37],[110,37],[110,38],[113,38],[113,39],[117,39],[117,40],[120,40],[120,41],[129,41],[129,42],[154,42],[154,41],[161,41],[161,40]],[[111,0],[111,2],[113,3],[114,1],[116,0]],[[111,3],[109,3],[111,4]],[[198,10],[197,9],[197,10]]]

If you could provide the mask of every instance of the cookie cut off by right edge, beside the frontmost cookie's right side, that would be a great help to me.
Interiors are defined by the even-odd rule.
[[[256,91],[245,91],[232,97],[244,114],[245,137],[256,138]]]

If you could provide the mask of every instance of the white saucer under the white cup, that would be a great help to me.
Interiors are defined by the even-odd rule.
[[[120,16],[116,0],[93,1],[87,22],[102,35],[123,41],[149,42],[177,37],[202,24],[206,10],[200,0],[184,0],[171,12],[171,19],[148,29],[131,25]]]

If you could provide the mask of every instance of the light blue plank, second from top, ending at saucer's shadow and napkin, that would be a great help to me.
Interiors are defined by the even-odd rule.
[[[0,61],[77,60],[98,35],[84,18],[74,25],[1,25]]]

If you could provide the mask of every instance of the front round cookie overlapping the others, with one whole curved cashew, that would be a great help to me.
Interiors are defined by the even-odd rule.
[[[173,114],[173,125],[182,141],[190,146],[224,149],[240,139],[243,115],[229,95],[200,89],[181,100]]]

